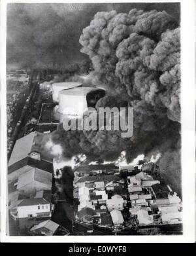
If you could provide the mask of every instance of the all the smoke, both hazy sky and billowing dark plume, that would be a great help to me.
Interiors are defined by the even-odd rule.
[[[65,69],[89,57],[89,82],[108,94],[97,106],[134,107],[130,139],[60,125],[52,140],[65,156],[114,160],[125,150],[131,161],[159,152],[163,174],[180,187],[179,17],[178,3],[8,4],[9,66]]]

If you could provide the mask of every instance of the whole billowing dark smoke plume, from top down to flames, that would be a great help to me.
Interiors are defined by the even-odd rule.
[[[96,160],[116,158],[123,150],[128,162],[139,154],[150,159],[158,152],[162,172],[167,179],[174,174],[172,183],[179,188],[180,28],[176,20],[157,10],[97,12],[83,29],[80,44],[93,64],[93,84],[105,86],[108,92],[96,107],[133,107],[134,133],[122,139],[118,131],[80,131],[71,136],[60,129],[66,137],[65,155],[72,151],[69,139],[73,153],[77,149]]]

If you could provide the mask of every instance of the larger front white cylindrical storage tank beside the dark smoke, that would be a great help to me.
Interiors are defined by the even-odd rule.
[[[66,116],[81,117],[89,107],[105,96],[105,90],[93,87],[77,87],[59,92],[60,122]]]

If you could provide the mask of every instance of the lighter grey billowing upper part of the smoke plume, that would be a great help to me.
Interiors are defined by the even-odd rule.
[[[180,120],[180,29],[167,12],[98,12],[80,44],[97,82],[128,96],[140,115]]]

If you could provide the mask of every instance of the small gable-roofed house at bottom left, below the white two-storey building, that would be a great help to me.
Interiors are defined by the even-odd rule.
[[[41,223],[34,225],[30,229],[30,234],[34,236],[53,236],[56,230],[59,228],[59,225],[50,219],[42,221]]]

